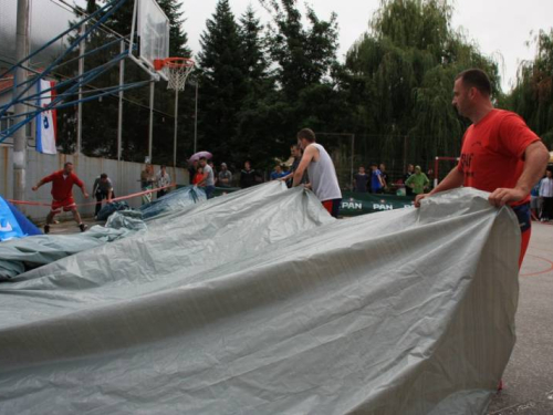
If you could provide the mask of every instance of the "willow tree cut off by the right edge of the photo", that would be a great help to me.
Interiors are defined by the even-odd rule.
[[[535,37],[536,55],[519,68],[508,106],[553,148],[553,30]]]

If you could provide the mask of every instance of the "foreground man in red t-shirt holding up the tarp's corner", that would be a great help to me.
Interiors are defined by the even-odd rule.
[[[429,194],[456,187],[474,187],[490,191],[490,204],[513,208],[521,226],[522,240],[519,267],[530,241],[530,190],[540,180],[547,166],[549,152],[517,114],[495,110],[490,100],[488,75],[472,69],[457,75],[453,86],[453,106],[472,122],[463,137],[457,168]]]

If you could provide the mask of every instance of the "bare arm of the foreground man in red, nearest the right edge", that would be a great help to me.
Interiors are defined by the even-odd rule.
[[[495,189],[488,198],[490,204],[501,207],[526,197],[532,187],[542,177],[543,172],[545,172],[549,159],[550,153],[542,142],[530,144],[524,151],[524,169],[517,186],[512,189],[502,187]]]

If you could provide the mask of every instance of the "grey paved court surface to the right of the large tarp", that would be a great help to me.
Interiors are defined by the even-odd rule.
[[[553,415],[553,226],[533,224],[520,274],[517,345],[489,415]]]

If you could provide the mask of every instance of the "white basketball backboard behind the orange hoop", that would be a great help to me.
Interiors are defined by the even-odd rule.
[[[138,58],[154,70],[154,60],[169,58],[169,19],[156,0],[136,1],[140,39]],[[165,79],[163,73],[159,74]]]

